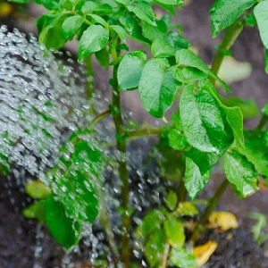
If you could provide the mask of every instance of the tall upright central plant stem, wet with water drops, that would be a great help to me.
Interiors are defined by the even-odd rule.
[[[127,169],[126,161],[126,135],[125,128],[121,117],[121,95],[118,90],[118,55],[116,53],[117,38],[115,43],[111,44],[111,54],[113,57],[113,121],[116,130],[116,144],[117,149],[121,154],[119,159],[119,177],[121,180],[121,208],[123,210],[121,214],[122,234],[121,234],[121,262],[124,268],[130,268],[130,186],[129,186],[129,172]]]

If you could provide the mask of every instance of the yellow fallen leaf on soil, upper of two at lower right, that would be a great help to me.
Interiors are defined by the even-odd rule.
[[[211,228],[219,228],[220,230],[229,230],[239,227],[239,222],[234,214],[229,212],[213,212],[209,217]]]

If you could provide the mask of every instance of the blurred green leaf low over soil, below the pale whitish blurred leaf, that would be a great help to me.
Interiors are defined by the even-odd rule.
[[[226,98],[221,98],[221,101],[222,104],[226,106],[238,106],[244,119],[259,116],[259,108],[253,99],[243,100],[238,96],[228,96]]]

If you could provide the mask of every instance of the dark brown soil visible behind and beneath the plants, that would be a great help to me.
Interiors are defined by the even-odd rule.
[[[214,46],[220,42],[217,38],[212,41],[208,9],[214,1],[192,1],[183,11],[178,13],[176,21],[182,24],[185,36],[197,47],[201,58],[206,63],[211,63],[214,54]],[[32,28],[32,23],[0,19],[0,23],[12,28]],[[136,45],[133,45],[136,46]],[[264,49],[261,44],[257,29],[247,28],[239,37],[238,42],[232,49],[233,56],[239,61],[250,62],[253,66],[253,73],[248,80],[241,81],[231,86],[234,94],[243,98],[252,97],[259,107],[268,103],[268,76],[264,73]],[[105,81],[108,74],[105,71],[96,71],[96,88],[105,91]],[[136,99],[135,99],[136,97]],[[134,100],[134,101],[133,101]],[[124,99],[124,106],[128,110],[138,110],[135,113],[139,121],[149,120],[154,122],[147,113],[140,109],[137,92],[130,93],[130,97]],[[134,108],[135,107],[135,108]],[[138,108],[137,108],[138,107]],[[254,127],[255,121],[247,122],[247,125]],[[219,180],[217,178],[217,180]],[[219,185],[216,179],[210,182],[210,190],[204,195],[209,197]],[[43,238],[37,238],[37,223],[25,220],[21,216],[21,209],[29,200],[19,188],[9,185],[5,178],[0,180],[0,267],[3,268],[30,268],[30,267],[60,267],[63,257],[63,250],[56,245],[53,239],[44,230]],[[265,256],[264,248],[258,247],[253,241],[250,233],[252,222],[248,221],[247,214],[255,211],[268,214],[268,192],[261,191],[253,197],[239,199],[234,197],[230,189],[223,195],[219,208],[236,214],[239,218],[240,227],[238,230],[231,230],[227,233],[209,233],[205,239],[216,239],[219,246],[211,257],[209,264],[205,267],[243,267],[258,268],[268,267],[268,258]],[[232,238],[230,239],[230,233]],[[42,251],[37,252],[36,246],[42,245]],[[35,252],[37,256],[35,256]],[[41,264],[38,266],[37,264]]]

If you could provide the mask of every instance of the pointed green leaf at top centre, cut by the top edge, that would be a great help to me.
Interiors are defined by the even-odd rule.
[[[135,13],[141,21],[146,21],[147,23],[156,26],[154,11],[151,4],[147,3],[147,1],[138,1],[133,5],[128,5],[128,10]]]

